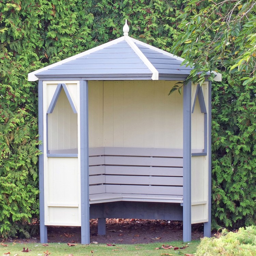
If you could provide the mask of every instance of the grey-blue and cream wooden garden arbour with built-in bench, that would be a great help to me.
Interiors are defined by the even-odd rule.
[[[125,32],[126,33],[126,32]],[[29,74],[39,80],[40,236],[89,219],[183,220],[211,234],[211,82],[183,59],[124,37]],[[72,187],[72,189],[67,189]],[[129,209],[129,210],[127,210]]]

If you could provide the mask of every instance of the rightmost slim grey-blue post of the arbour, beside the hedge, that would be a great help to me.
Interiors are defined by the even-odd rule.
[[[208,222],[204,223],[204,237],[211,237],[212,206],[212,82],[208,85]]]

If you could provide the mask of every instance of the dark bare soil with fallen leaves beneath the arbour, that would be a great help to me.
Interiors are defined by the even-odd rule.
[[[97,219],[90,220],[90,241],[98,243],[137,244],[182,240],[182,222],[149,219],[106,219],[106,234],[97,234]],[[49,243],[80,243],[80,227],[48,227]],[[192,240],[203,237],[203,225],[192,225]],[[4,242],[40,242],[39,235],[31,239],[11,239]]]

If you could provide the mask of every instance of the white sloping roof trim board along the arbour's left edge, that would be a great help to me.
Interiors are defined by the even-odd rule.
[[[61,64],[63,64],[63,63],[66,63],[66,62],[68,62],[68,61],[71,61],[71,60],[74,60],[74,59],[83,57],[83,56],[88,55],[88,54],[90,54],[90,53],[94,53],[94,52],[99,51],[99,50],[101,50],[101,49],[103,49],[103,48],[105,48],[105,47],[108,47],[108,46],[111,46],[111,45],[113,45],[113,44],[119,43],[119,42],[121,42],[121,41],[123,41],[123,40],[125,40],[125,37],[117,38],[117,39],[112,40],[112,41],[110,41],[110,42],[108,42],[108,43],[104,43],[104,44],[101,44],[101,45],[96,46],[96,47],[94,47],[94,48],[91,48],[91,49],[89,49],[89,50],[87,50],[87,51],[85,51],[85,52],[76,54],[76,55],[71,56],[71,57],[69,57],[69,58],[67,58],[67,59],[63,59],[63,60],[58,61],[58,62],[56,62],[56,63],[53,63],[53,64],[51,64],[51,65],[49,65],[49,66],[46,66],[46,67],[44,67],[44,68],[35,70],[35,71],[33,71],[33,72],[31,72],[31,73],[28,74],[28,81],[37,81],[38,78],[35,76],[35,74],[37,74],[37,73],[39,73],[39,72],[42,72],[42,71],[48,70],[48,69],[50,69],[50,68],[56,67],[56,66],[58,66],[58,65],[61,65]]]

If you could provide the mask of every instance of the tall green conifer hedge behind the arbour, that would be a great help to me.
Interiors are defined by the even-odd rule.
[[[0,234],[29,237],[38,218],[37,83],[27,74],[122,35],[170,52],[186,1],[0,1]],[[213,225],[255,222],[255,88],[213,84]]]

